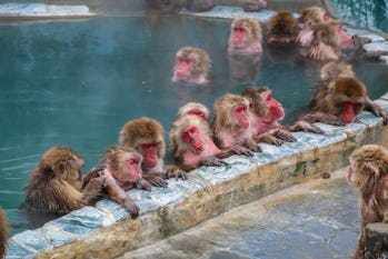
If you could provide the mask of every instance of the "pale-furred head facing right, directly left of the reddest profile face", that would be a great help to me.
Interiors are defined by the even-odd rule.
[[[215,102],[216,127],[239,132],[249,128],[249,101],[238,94],[227,93]]]

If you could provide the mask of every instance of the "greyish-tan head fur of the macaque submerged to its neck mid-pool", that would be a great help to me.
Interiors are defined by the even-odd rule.
[[[176,53],[176,63],[178,62],[179,58],[189,58],[193,60],[195,64],[193,69],[191,70],[192,78],[199,77],[200,74],[203,74],[206,78],[208,77],[211,60],[205,50],[195,47],[183,47]]]

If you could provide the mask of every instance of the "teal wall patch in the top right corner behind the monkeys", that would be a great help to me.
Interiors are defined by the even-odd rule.
[[[388,32],[388,7],[385,0],[329,0],[335,14],[355,27]]]

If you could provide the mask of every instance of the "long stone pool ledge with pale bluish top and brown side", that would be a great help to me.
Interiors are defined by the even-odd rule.
[[[387,99],[376,102],[388,109]],[[388,146],[388,127],[369,112],[346,127],[318,126],[325,135],[296,132],[298,142],[281,147],[260,143],[263,152],[232,156],[223,167],[201,167],[191,171],[187,181],[168,180],[167,189],[129,191],[140,207],[138,219],[106,199],[42,228],[17,233],[9,240],[6,258],[115,258],[237,206],[342,168],[348,165],[348,156],[365,143]]]

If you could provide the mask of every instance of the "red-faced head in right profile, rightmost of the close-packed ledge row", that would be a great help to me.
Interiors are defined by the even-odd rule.
[[[248,98],[250,110],[262,121],[271,122],[283,118],[285,110],[272,97],[272,91],[268,87],[247,87],[241,94]]]

